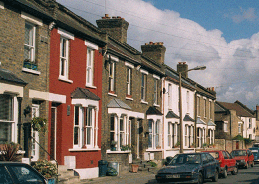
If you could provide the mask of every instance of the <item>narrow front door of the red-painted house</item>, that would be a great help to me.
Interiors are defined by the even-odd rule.
[[[51,121],[50,121],[50,159],[56,160],[56,120],[57,108],[51,107]]]

